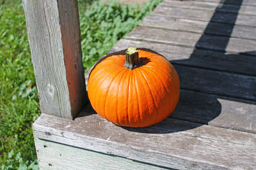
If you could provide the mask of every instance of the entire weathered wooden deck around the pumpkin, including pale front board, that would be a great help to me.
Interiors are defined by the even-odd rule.
[[[174,113],[136,129],[90,104],[75,120],[42,114],[33,124],[42,169],[256,169],[255,0],[164,0],[109,52],[127,46],[175,66]]]

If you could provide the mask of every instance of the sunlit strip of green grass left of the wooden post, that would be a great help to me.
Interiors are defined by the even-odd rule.
[[[0,17],[0,164],[17,169],[36,160],[31,124],[40,110],[21,2],[5,1]]]

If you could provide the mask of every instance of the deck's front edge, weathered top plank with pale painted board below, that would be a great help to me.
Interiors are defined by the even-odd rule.
[[[256,168],[255,134],[173,118],[151,127],[124,128],[93,114],[90,104],[74,121],[42,114],[33,124],[33,133],[41,169],[61,169],[60,164],[68,169],[66,162],[73,163],[74,169],[79,169],[76,165],[103,169],[99,163],[95,165],[99,157],[101,162],[109,162],[105,169],[128,169],[119,166],[128,162],[132,169]]]

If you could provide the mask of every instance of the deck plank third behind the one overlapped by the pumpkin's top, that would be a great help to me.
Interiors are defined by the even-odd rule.
[[[151,15],[159,15],[190,20],[220,22],[224,24],[256,26],[254,15],[237,15],[236,13],[223,13],[220,11],[193,10],[176,7],[157,6]]]

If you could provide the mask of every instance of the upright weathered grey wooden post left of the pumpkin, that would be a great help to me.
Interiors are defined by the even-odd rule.
[[[23,0],[42,113],[72,119],[86,104],[77,0]]]

